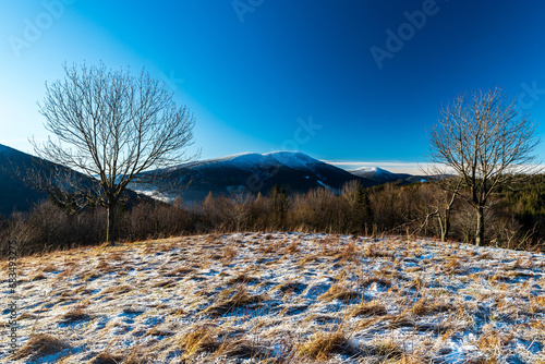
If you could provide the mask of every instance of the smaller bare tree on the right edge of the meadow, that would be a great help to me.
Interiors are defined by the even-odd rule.
[[[516,177],[536,173],[540,139],[528,114],[520,114],[501,89],[460,96],[441,108],[429,135],[432,163],[448,167],[469,189],[475,209],[475,244],[484,241],[484,208],[491,195]]]

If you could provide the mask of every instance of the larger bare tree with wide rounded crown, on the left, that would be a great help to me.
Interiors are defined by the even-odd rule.
[[[38,157],[96,179],[98,203],[108,210],[107,241],[114,239],[116,209],[130,183],[157,184],[143,173],[187,161],[194,118],[147,72],[64,65],[65,77],[46,83],[39,105],[46,129],[58,137],[33,141]],[[83,191],[81,191],[84,193]]]

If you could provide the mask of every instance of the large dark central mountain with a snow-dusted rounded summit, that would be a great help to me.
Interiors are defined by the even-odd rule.
[[[210,191],[215,195],[233,192],[267,194],[275,184],[283,185],[288,193],[305,193],[320,186],[339,191],[352,180],[366,187],[377,184],[294,151],[245,153],[184,163],[162,172],[168,173],[169,181],[175,186],[167,197],[180,195],[190,203],[203,201]]]

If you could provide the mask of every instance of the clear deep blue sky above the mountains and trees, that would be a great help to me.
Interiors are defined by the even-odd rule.
[[[408,25],[416,11],[425,24]],[[0,14],[0,143],[24,151],[47,136],[45,82],[100,60],[166,81],[203,158],[419,162],[440,104],[495,86],[545,136],[545,1],[2,0]],[[388,29],[405,40],[377,62]]]

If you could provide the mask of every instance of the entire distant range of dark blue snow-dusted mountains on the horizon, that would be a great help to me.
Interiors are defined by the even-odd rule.
[[[15,210],[28,210],[38,201],[47,198],[46,193],[27,186],[13,177],[13,168],[19,169],[24,175],[28,170],[44,167],[31,155],[0,145],[2,216]],[[171,187],[162,194],[164,198],[172,199],[181,196],[186,204],[204,201],[209,192],[214,195],[258,192],[266,195],[274,185],[283,185],[290,194],[305,193],[317,187],[339,192],[347,182],[353,180],[359,181],[364,187],[387,182],[404,184],[422,180],[421,177],[391,173],[380,168],[347,171],[295,151],[245,153],[183,163],[169,170],[147,173],[159,173],[166,178]],[[76,174],[82,179],[82,183],[96,183],[93,179]],[[130,187],[141,194],[155,193],[135,185]]]

